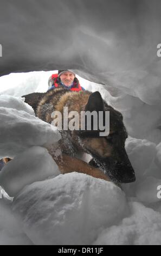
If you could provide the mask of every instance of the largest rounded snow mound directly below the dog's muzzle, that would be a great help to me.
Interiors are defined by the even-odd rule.
[[[101,229],[128,214],[125,194],[118,186],[80,173],[25,187],[13,209],[35,245],[88,245]]]

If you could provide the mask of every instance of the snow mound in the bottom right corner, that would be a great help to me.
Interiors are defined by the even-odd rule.
[[[138,202],[130,203],[131,216],[102,231],[95,245],[160,245],[161,215]]]

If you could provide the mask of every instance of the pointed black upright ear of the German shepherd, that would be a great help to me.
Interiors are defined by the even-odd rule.
[[[104,111],[104,103],[99,92],[94,92],[89,96],[85,111]]]

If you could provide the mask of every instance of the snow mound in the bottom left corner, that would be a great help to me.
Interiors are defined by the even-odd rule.
[[[13,215],[11,205],[0,200],[0,245],[32,245],[23,233],[20,221]]]

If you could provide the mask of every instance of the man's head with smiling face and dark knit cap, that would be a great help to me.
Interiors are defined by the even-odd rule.
[[[61,82],[63,84],[65,84],[65,86],[71,86],[74,78],[75,78],[75,74],[73,71],[70,70],[59,70],[58,71],[58,77],[60,78]]]

